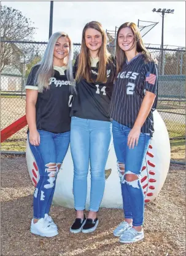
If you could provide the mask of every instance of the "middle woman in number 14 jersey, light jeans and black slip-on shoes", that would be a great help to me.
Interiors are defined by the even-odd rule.
[[[74,204],[76,220],[72,233],[90,233],[98,226],[107,157],[112,134],[108,108],[115,66],[106,48],[106,33],[99,22],[85,25],[82,46],[75,66],[77,95],[72,104],[71,153],[74,162]],[[90,209],[85,218],[87,174],[90,162]]]

